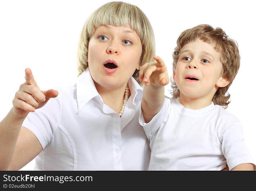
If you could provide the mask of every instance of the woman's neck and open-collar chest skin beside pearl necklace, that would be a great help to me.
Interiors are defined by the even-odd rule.
[[[94,84],[98,93],[102,97],[104,104],[109,106],[116,113],[119,113],[123,105],[125,88],[127,83],[125,83],[124,85],[118,88],[113,88],[113,89],[104,88],[103,86],[97,84],[96,82],[94,82]],[[129,96],[130,96],[130,93],[129,93]]]

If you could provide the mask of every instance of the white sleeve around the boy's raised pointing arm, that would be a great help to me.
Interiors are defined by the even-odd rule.
[[[150,122],[145,123],[141,108],[140,108],[140,115],[139,115],[139,123],[143,126],[144,131],[147,135],[147,139],[151,141],[152,137],[155,135],[161,124],[167,119],[170,113],[170,99],[165,98],[163,107],[161,110],[155,115]]]

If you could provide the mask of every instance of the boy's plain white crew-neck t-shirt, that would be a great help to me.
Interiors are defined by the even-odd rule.
[[[179,98],[166,99],[162,109],[140,124],[150,141],[149,170],[231,170],[253,163],[241,123],[221,106],[184,108]],[[255,167],[255,166],[254,166]]]

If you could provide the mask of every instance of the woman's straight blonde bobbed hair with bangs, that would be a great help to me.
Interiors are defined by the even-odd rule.
[[[155,40],[151,24],[145,14],[135,5],[125,2],[110,2],[99,7],[85,22],[77,51],[78,76],[88,67],[88,45],[91,35],[101,25],[130,26],[141,39],[141,65],[152,62],[155,55]],[[139,81],[139,70],[132,75]]]

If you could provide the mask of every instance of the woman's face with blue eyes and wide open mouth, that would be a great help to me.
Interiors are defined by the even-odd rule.
[[[90,37],[88,65],[95,85],[118,88],[139,69],[141,40],[129,26],[99,26]]]

